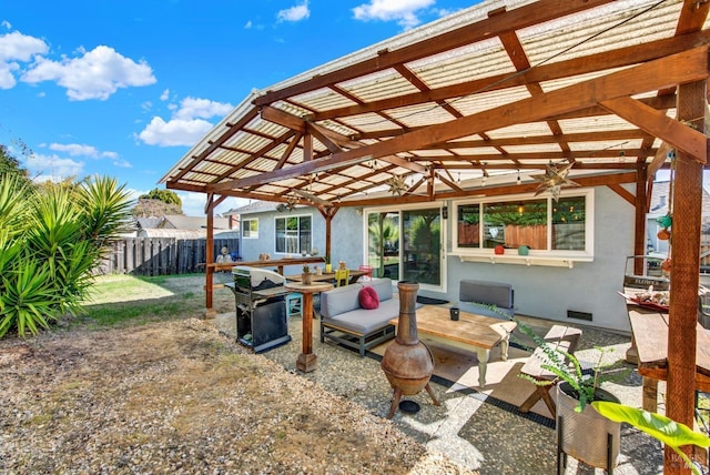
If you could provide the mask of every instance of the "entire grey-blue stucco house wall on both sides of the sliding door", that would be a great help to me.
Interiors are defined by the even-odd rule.
[[[632,190],[629,188],[629,191]],[[272,206],[273,209],[273,206]],[[262,211],[242,214],[242,220],[257,218],[258,239],[242,241],[243,259],[257,260],[260,253],[272,259],[283,257],[274,251],[274,219],[286,212]],[[325,252],[325,220],[313,208],[297,208],[290,213],[313,216],[313,239],[320,253]],[[544,265],[490,264],[462,262],[456,255],[446,256],[445,292],[422,290],[419,294],[458,300],[462,279],[480,279],[511,283],[515,289],[517,313],[557,320],[569,324],[599,326],[629,332],[626,303],[617,293],[622,290],[626,257],[633,254],[633,206],[601,186],[595,189],[594,262],[575,262],[572,269]],[[445,220],[447,244],[450,250],[454,220]],[[353,269],[365,262],[364,216],[357,209],[341,209],[332,223],[332,262],[344,260]],[[285,273],[298,273],[286,267]],[[591,321],[569,319],[568,311],[591,314]]]

